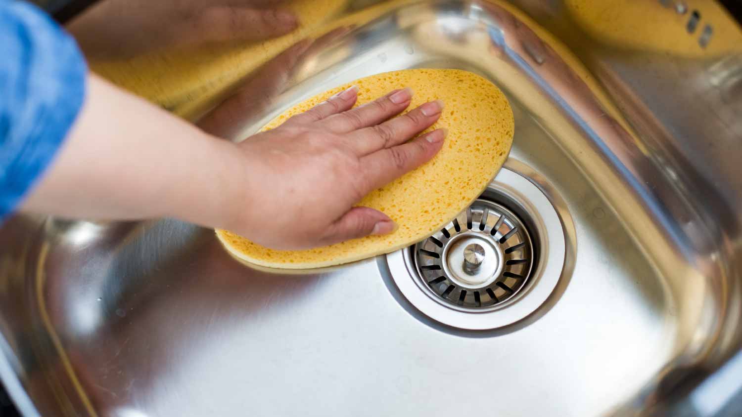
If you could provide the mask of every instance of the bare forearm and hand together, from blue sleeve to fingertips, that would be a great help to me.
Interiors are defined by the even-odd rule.
[[[389,217],[355,204],[433,158],[445,136],[434,130],[408,141],[435,123],[442,107],[433,101],[393,118],[411,94],[393,91],[351,110],[358,98],[352,88],[234,143],[91,74],[81,113],[22,210],[175,217],[278,249],[390,233]]]

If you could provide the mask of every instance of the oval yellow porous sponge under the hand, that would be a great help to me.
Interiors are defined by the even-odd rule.
[[[266,267],[306,269],[390,253],[430,236],[453,220],[485,190],[508,157],[514,125],[508,99],[490,81],[462,70],[402,70],[359,79],[303,101],[263,130],[278,126],[352,84],[359,87],[358,104],[401,87],[411,87],[415,92],[409,109],[434,99],[446,104],[441,119],[429,129],[448,128],[439,154],[417,170],[374,190],[358,204],[386,213],[397,222],[398,229],[386,236],[368,236],[310,250],[271,250],[217,230],[217,236],[234,256]]]

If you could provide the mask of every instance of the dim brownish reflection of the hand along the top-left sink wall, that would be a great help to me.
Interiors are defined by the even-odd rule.
[[[66,29],[88,59],[281,36],[298,25],[280,0],[102,0]]]

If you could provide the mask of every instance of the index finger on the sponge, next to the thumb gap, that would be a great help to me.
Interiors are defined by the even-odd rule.
[[[367,179],[365,194],[390,183],[394,179],[424,164],[441,150],[445,129],[436,129],[413,141],[384,148],[361,158],[361,172]]]

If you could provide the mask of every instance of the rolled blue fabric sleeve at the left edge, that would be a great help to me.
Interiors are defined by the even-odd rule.
[[[24,1],[0,0],[0,222],[64,141],[85,97],[74,39]]]

